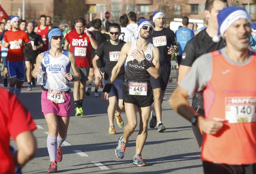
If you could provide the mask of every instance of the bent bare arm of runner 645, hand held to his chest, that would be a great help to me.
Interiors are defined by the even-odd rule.
[[[160,59],[160,53],[159,53],[159,49],[155,46],[153,46],[153,60],[152,60],[152,67],[149,67],[147,69],[148,73],[150,75],[152,75],[154,78],[158,78],[160,75],[160,63],[159,63],[159,59]]]

